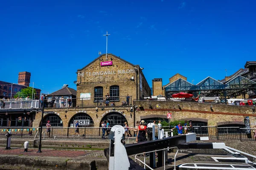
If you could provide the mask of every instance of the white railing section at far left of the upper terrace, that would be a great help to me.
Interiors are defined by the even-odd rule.
[[[0,101],[0,109],[28,109],[39,108],[40,100],[26,100],[26,101]]]

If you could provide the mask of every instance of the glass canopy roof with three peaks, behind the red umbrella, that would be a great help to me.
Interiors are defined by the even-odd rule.
[[[242,76],[234,77],[225,84],[207,77],[197,85],[193,85],[184,79],[177,79],[175,82],[169,83],[165,87],[166,99],[172,98],[172,94],[184,92],[198,96],[227,96],[236,97],[241,94],[245,95],[248,91],[256,90],[256,82],[251,81]]]

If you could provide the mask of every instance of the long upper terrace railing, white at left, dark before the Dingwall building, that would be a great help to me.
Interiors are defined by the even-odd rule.
[[[25,108],[90,108],[114,107],[131,105],[132,96],[75,98],[75,99],[47,99],[47,100],[0,100],[0,109]]]

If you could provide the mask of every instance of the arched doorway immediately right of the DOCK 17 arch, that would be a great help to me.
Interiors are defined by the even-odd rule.
[[[114,125],[124,126],[125,122],[127,122],[127,119],[121,113],[111,112],[111,113],[106,114],[102,118],[102,120],[99,123],[99,127],[101,127],[101,122],[102,121],[104,121],[106,123],[107,120],[108,120],[108,123],[109,123],[110,127],[113,127]],[[133,126],[133,125],[129,125],[129,126]]]

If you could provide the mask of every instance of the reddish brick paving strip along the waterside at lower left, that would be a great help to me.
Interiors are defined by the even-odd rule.
[[[6,150],[0,148],[1,155],[16,155],[16,156],[51,156],[51,157],[68,157],[76,158],[78,156],[103,157],[102,150],[56,150],[56,149],[42,149],[42,153],[37,153],[38,149],[31,148],[28,152],[24,152],[23,148],[12,148]]]

